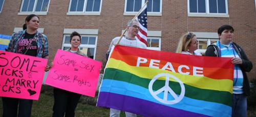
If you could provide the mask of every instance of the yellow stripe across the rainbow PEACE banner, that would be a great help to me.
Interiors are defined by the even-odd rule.
[[[233,81],[228,79],[216,80],[208,77],[183,75],[179,73],[173,73],[170,71],[163,71],[162,69],[157,69],[157,68],[131,66],[121,60],[116,60],[113,58],[111,58],[108,61],[108,65],[106,66],[106,68],[120,69],[121,71],[129,72],[138,77],[142,77],[146,79],[153,79],[156,75],[160,73],[167,73],[167,74],[174,75],[179,80],[181,80],[184,84],[187,84],[190,86],[194,86],[202,89],[228,91],[232,93],[232,88],[230,87],[232,87]],[[165,80],[165,77],[160,77],[158,78],[158,80]],[[170,78],[169,81],[178,82],[173,78]]]

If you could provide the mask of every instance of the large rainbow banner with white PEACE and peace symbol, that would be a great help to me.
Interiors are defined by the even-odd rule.
[[[117,45],[97,106],[143,116],[231,116],[230,59]]]

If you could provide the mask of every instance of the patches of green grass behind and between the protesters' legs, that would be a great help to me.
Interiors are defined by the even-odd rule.
[[[33,101],[32,117],[36,116],[52,116],[53,107],[53,93],[52,87],[42,86],[42,91],[38,101]],[[103,107],[96,107],[96,98],[82,96],[80,103],[77,105],[75,115],[76,116],[109,116],[110,109]],[[248,117],[256,116],[256,108],[248,107]],[[3,104],[2,98],[0,98],[0,116],[3,116]],[[121,111],[121,117],[125,116]]]

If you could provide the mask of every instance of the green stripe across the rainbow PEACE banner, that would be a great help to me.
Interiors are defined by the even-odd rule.
[[[148,84],[150,84],[151,81],[151,79],[141,78],[131,73],[124,72],[115,68],[106,68],[103,79],[113,79],[128,82],[142,86],[144,88],[148,88]],[[164,85],[165,81],[157,80],[154,82],[153,90],[158,90]],[[232,99],[232,94],[228,91],[202,89],[187,84],[184,84],[184,86],[185,97],[208,102],[216,102],[231,106],[232,100],[225,100],[227,98]],[[169,81],[169,87],[172,88],[176,94],[179,94],[181,92],[181,87],[178,82]]]

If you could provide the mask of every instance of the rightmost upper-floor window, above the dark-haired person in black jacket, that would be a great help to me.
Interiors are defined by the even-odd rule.
[[[188,0],[190,14],[228,14],[227,0]]]

